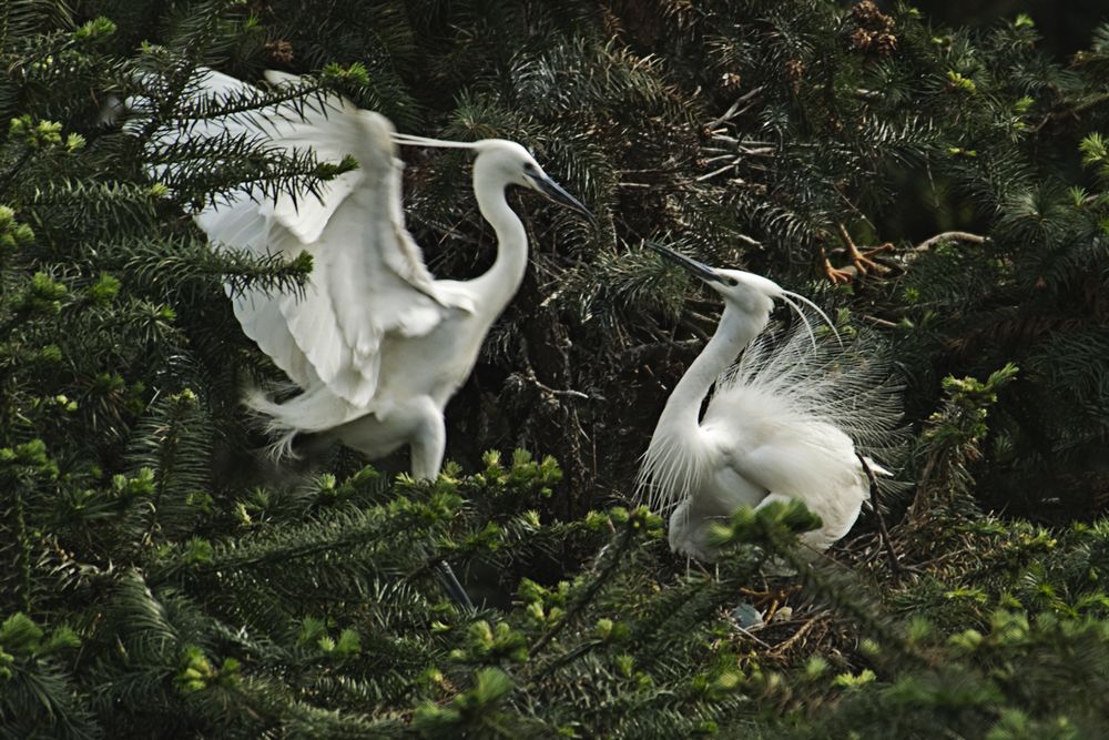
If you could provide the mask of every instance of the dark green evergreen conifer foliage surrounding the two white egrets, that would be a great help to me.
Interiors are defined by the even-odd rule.
[[[8,0],[0,737],[1106,736],[1109,23],[1040,45],[1027,16],[865,0]],[[199,65],[308,77],[195,105]],[[301,290],[311,260],[216,254],[189,215],[356,163],[151,143],[322,90],[519,140],[601,216],[516,201],[532,264],[435,483],[312,440],[264,458],[238,397],[281,374],[226,291]],[[407,155],[430,266],[476,274],[465,155]],[[891,345],[904,485],[827,558],[767,507],[688,569],[629,500],[719,311],[647,236]],[[540,456],[486,452],[513,448]],[[788,596],[756,629],[763,586]]]

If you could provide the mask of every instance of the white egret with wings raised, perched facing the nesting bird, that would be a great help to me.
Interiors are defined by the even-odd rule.
[[[277,87],[298,82],[278,72],[266,78]],[[240,80],[201,70],[187,94],[203,107],[205,100],[218,103],[256,92]],[[245,136],[287,154],[312,150],[319,161],[353,155],[358,162],[323,182],[318,195],[267,197],[244,190],[195,214],[217,250],[289,259],[307,251],[313,257],[303,295],[247,290],[232,296],[243,331],[302,389],[282,403],[256,391],[247,404],[268,419],[278,450],[287,450],[302,432],[326,432],[370,458],[409,444],[413,474],[435,477],[446,444],[444,407],[472,369],[482,339],[527,267],[527,234],[505,189],[531,187],[587,217],[588,212],[515,142],[396,134],[387,119],[336,94],[200,118],[189,125],[171,123],[155,131],[153,142],[172,146],[224,136]],[[498,240],[487,273],[459,282],[435,280],[428,272],[405,227],[397,142],[476,152],[474,191]]]

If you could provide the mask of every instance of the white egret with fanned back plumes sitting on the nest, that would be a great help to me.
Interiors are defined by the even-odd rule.
[[[716,332],[670,394],[640,470],[651,506],[673,508],[671,549],[712,561],[719,555],[709,541],[714,520],[726,520],[741,505],[790,498],[804,501],[823,523],[802,541],[826,549],[847,534],[869,491],[856,442],[881,443],[897,425],[887,367],[841,344],[834,333],[817,338],[791,298],[811,305],[830,327],[832,322],[774,282],[648,245],[724,300]],[[755,341],[775,300],[788,303],[802,322],[785,336]],[[731,367],[744,347],[743,359]],[[702,402],[714,385],[702,418]]]

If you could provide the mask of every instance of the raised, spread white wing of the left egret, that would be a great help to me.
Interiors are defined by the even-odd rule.
[[[277,72],[266,77],[277,85],[296,81]],[[194,90],[217,99],[252,92],[246,83],[211,70],[199,74]],[[288,153],[311,150],[319,161],[357,160],[357,169],[321,183],[318,196],[305,192],[272,199],[246,191],[196,214],[216,249],[312,254],[314,267],[303,295],[247,291],[236,297],[235,314],[294,382],[304,388],[323,383],[357,407],[375,399],[387,335],[423,335],[449,308],[470,310],[459,296],[437,290],[405,227],[403,165],[391,133],[384,116],[339,95],[207,118],[183,132],[190,138],[245,135]]]

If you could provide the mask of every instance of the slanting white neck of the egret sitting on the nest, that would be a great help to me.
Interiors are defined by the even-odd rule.
[[[751,314],[725,304],[716,333],[674,386],[659,417],[660,429],[695,429],[700,425],[701,402],[712,384],[728,369],[740,349],[751,343],[770,321],[770,313]]]

